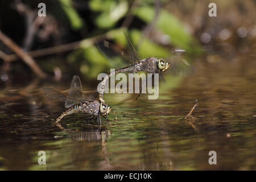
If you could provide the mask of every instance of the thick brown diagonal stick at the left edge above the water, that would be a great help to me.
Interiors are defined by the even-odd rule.
[[[0,40],[11,50],[13,50],[22,60],[41,78],[45,78],[47,75],[44,73],[35,63],[34,59],[26,52],[22,50],[17,44],[13,42],[9,37],[7,37],[3,32],[0,30]]]

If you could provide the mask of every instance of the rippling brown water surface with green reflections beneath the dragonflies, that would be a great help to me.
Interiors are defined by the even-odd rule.
[[[0,169],[255,170],[255,56],[205,56],[193,66],[183,78],[164,73],[158,100],[105,94],[113,109],[100,129],[82,114],[64,118],[61,128],[53,124],[64,104],[49,100],[42,87],[68,84],[3,88]],[[196,100],[196,120],[185,120]],[[46,165],[38,164],[39,151]],[[217,165],[208,163],[209,151],[216,151]]]

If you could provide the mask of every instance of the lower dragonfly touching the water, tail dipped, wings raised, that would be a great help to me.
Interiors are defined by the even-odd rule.
[[[110,106],[105,104],[105,102],[100,103],[99,101],[95,100],[97,94],[85,96],[82,93],[80,78],[77,75],[73,76],[68,96],[65,96],[63,93],[52,88],[43,88],[43,91],[51,99],[65,101],[65,107],[69,108],[56,119],[56,123],[67,115],[85,113],[92,115],[90,119],[97,116],[97,120],[98,122],[100,121],[101,124],[100,115],[104,117],[105,115],[108,115],[112,109]]]

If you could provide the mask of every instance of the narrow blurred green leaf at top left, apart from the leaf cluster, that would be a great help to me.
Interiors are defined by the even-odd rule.
[[[68,16],[69,23],[71,23],[73,30],[79,30],[84,23],[77,11],[72,7],[72,0],[59,1],[62,9],[65,11],[65,14]]]

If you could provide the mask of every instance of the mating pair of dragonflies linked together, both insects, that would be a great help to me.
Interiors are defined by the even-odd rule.
[[[49,98],[65,101],[65,107],[69,108],[56,119],[56,123],[60,122],[60,120],[67,115],[85,113],[92,115],[90,119],[96,117],[98,125],[101,125],[100,115],[105,117],[110,113],[112,109],[112,107],[108,106],[108,104],[106,104],[103,100],[105,83],[110,76],[112,76],[114,73],[121,72],[136,73],[138,71],[146,71],[148,73],[161,73],[167,71],[167,69],[170,67],[170,63],[168,61],[165,61],[163,59],[157,59],[156,57],[147,57],[146,59],[141,59],[126,33],[125,36],[127,42],[129,43],[129,47],[132,50],[130,53],[125,53],[121,51],[107,41],[97,44],[101,53],[108,59],[112,55],[119,55],[125,61],[129,61],[130,63],[131,61],[133,61],[133,64],[130,64],[129,66],[124,68],[115,69],[115,71],[110,72],[106,77],[104,77],[101,82],[100,90],[98,90],[98,92],[93,93],[91,96],[85,96],[82,93],[82,86],[79,76],[73,76],[68,96],[65,96],[63,93],[52,88],[43,88],[44,93],[46,93]],[[144,82],[146,82],[146,80],[147,78],[143,81],[142,85],[144,84]],[[97,95],[99,96],[99,101],[96,100]],[[139,93],[139,96],[140,95],[141,91]]]

